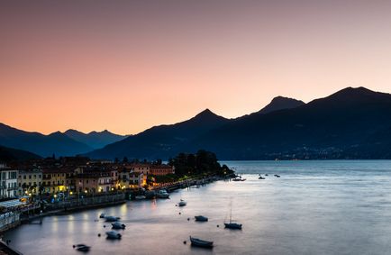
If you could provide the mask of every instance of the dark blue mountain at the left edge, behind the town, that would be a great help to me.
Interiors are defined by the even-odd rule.
[[[39,132],[25,132],[0,123],[0,145],[19,150],[32,151],[41,157],[73,156],[93,150],[86,144],[75,141],[61,132],[44,135]]]

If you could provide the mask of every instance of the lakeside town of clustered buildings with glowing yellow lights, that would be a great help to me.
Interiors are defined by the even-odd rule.
[[[159,186],[156,176],[175,174],[175,167],[156,162],[90,160],[61,157],[0,164],[0,198],[109,193]],[[150,178],[149,178],[150,177]]]

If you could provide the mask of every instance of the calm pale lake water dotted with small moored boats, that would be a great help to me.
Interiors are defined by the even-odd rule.
[[[24,254],[79,254],[72,245],[80,242],[92,246],[89,254],[391,252],[391,160],[224,163],[247,180],[179,190],[168,200],[46,217],[41,225],[7,232],[4,239]],[[259,180],[265,173],[269,176]],[[187,201],[185,207],[175,206],[180,198]],[[230,201],[241,231],[223,228]],[[122,218],[127,227],[120,231],[121,241],[105,239],[110,223],[95,222],[101,213]],[[195,223],[196,214],[209,222]],[[191,247],[189,235],[214,241],[214,249]]]

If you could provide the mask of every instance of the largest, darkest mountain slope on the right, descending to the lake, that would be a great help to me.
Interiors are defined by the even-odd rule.
[[[391,159],[391,95],[348,87],[293,109],[227,123],[187,150],[220,159]]]

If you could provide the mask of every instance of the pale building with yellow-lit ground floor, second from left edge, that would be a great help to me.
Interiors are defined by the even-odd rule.
[[[40,194],[42,185],[42,171],[39,168],[23,169],[18,173],[19,196]]]

